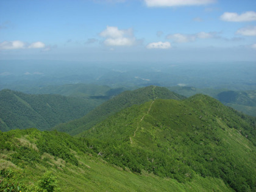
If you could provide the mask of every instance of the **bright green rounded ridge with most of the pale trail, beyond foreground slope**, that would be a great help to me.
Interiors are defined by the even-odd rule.
[[[255,135],[255,118],[202,94],[135,105],[83,133],[115,165],[179,182],[218,178],[236,191],[255,190]]]

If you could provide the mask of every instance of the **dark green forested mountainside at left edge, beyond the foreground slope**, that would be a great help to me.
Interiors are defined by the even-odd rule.
[[[59,123],[84,116],[99,102],[53,94],[0,91],[0,130],[37,127],[47,130]]]

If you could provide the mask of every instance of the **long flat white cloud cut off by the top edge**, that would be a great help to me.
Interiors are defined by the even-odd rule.
[[[205,5],[215,0],[144,0],[148,7],[172,7],[184,5]]]

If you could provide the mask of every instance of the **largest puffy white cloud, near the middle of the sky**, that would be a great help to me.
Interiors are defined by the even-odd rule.
[[[118,27],[107,26],[99,35],[105,37],[104,44],[107,46],[132,46],[136,43],[132,29],[119,30]]]

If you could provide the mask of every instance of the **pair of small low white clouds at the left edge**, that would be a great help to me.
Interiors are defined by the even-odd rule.
[[[44,48],[45,44],[41,41],[37,41],[34,43],[31,43],[27,45],[23,41],[3,41],[0,43],[0,49],[38,49],[38,48]]]

